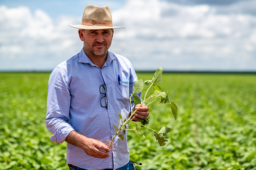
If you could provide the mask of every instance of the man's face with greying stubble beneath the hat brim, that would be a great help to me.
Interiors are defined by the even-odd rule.
[[[81,30],[79,35],[84,41],[86,55],[101,58],[106,55],[111,45],[113,29]]]

